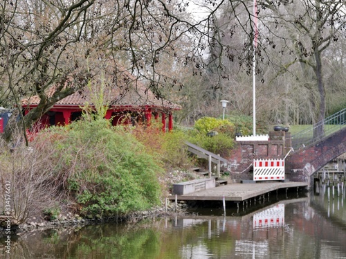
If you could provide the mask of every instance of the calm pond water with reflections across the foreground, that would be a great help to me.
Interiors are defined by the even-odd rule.
[[[338,191],[339,190],[339,191]],[[12,237],[3,258],[346,258],[345,190],[271,195],[194,215],[49,230]],[[214,204],[215,205],[215,204]],[[1,240],[3,244],[5,240]]]

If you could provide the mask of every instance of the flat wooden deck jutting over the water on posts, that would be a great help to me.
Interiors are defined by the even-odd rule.
[[[219,201],[225,197],[225,201],[242,202],[246,199],[259,197],[274,190],[286,188],[305,188],[307,183],[303,182],[260,182],[255,184],[228,184],[207,190],[200,190],[186,195],[172,195],[168,199],[179,201]]]

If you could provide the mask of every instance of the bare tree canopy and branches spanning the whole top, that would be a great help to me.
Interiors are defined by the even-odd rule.
[[[345,92],[334,76],[344,67],[343,1],[257,1],[255,14],[253,1],[225,0],[4,0],[0,6],[0,106],[21,114],[21,98],[41,99],[19,121],[23,129],[100,76],[123,84],[116,74],[125,70],[158,97],[199,100],[186,105],[185,117],[206,115],[202,107],[215,107],[220,96],[250,115],[254,17],[263,116],[315,122],[324,118],[328,98]],[[52,86],[57,90],[48,96]]]

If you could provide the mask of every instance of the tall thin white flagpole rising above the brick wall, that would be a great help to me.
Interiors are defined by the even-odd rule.
[[[256,47],[257,47],[257,4],[253,0],[253,136],[256,136]]]

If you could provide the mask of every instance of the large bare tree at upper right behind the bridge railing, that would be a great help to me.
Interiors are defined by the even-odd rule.
[[[329,59],[334,55],[331,47],[335,48],[338,39],[342,42],[345,37],[345,3],[262,1],[260,6],[262,39],[279,49],[280,55],[286,56],[277,75],[288,72],[295,75],[301,86],[309,91],[306,101],[317,111],[312,122],[324,119],[327,111],[325,73]]]

